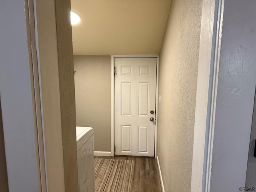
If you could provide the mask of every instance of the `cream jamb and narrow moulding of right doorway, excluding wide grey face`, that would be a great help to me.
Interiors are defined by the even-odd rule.
[[[222,0],[202,2],[200,51],[196,87],[196,108],[194,122],[194,144],[192,156],[191,192],[206,191],[210,184],[210,158],[215,118],[216,90],[218,88],[218,68],[222,20],[220,14]],[[205,22],[207,21],[207,22]],[[207,23],[207,25],[204,25]]]

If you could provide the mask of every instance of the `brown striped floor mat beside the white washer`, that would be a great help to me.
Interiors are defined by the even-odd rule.
[[[134,160],[95,158],[95,192],[130,192],[134,164]]]

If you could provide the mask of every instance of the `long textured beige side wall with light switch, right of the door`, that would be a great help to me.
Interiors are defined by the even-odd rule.
[[[157,156],[168,192],[190,191],[201,4],[171,1],[160,52]]]

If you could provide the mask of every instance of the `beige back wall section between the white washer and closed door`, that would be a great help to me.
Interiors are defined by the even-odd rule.
[[[94,128],[95,151],[110,151],[110,56],[74,56],[76,126]]]

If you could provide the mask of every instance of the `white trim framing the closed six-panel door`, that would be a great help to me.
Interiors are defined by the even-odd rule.
[[[111,55],[110,56],[110,82],[111,82],[111,153],[110,156],[115,155],[115,76],[114,66],[115,58],[156,58],[156,125],[155,125],[155,158],[156,158],[156,143],[157,143],[157,116],[158,116],[158,65],[159,55],[158,54],[142,54],[142,55]]]

